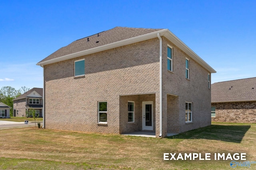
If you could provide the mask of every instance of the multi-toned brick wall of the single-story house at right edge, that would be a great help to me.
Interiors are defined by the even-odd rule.
[[[212,103],[213,122],[256,123],[256,102]]]

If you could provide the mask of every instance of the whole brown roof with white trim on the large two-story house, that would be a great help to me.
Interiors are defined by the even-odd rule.
[[[151,28],[127,28],[127,27],[115,27],[113,29],[88,36],[76,40],[69,45],[62,47],[38,62],[36,65],[43,67],[44,65],[80,57],[128,45],[131,43],[141,42],[158,36],[165,36],[177,45],[182,51],[190,55],[192,59],[206,68],[210,73],[216,73],[216,71],[210,67],[202,58],[200,58],[194,51],[192,51],[185,43],[183,43],[178,37],[176,37],[168,29],[151,29]]]

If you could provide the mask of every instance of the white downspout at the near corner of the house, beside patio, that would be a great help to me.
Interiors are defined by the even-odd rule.
[[[160,37],[160,34],[157,33],[157,37],[160,40],[160,61],[159,61],[159,65],[160,65],[160,87],[159,87],[159,93],[160,93],[160,108],[159,108],[159,112],[160,112],[160,134],[159,137],[162,137],[162,38]]]

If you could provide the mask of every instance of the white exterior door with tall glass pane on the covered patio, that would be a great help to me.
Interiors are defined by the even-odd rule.
[[[153,102],[142,102],[142,130],[153,130]]]

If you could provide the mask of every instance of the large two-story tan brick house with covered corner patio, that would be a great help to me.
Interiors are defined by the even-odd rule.
[[[115,27],[55,51],[44,70],[44,127],[156,136],[211,125],[216,71],[168,29]]]

